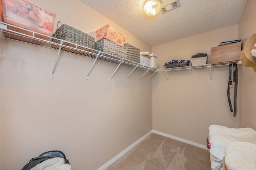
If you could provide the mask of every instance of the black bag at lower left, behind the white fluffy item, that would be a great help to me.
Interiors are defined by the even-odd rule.
[[[43,162],[45,160],[48,160],[48,159],[51,159],[51,158],[55,158],[55,157],[64,158],[65,164],[70,164],[68,159],[66,159],[66,156],[65,156],[65,154],[63,152],[61,152],[59,150],[52,150],[52,151],[44,152],[44,153],[40,154],[38,157],[36,157],[36,158],[32,158],[22,168],[22,170],[30,170],[31,168],[33,168],[37,164],[40,164],[41,162]]]

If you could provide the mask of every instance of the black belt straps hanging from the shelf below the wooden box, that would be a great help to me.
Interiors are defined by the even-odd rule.
[[[232,74],[232,64],[229,64],[229,79],[228,79],[228,104],[230,107],[230,111],[233,112],[232,104],[230,100],[230,94],[229,94],[229,88],[232,88],[232,80],[231,80],[231,74]],[[237,93],[237,81],[238,81],[238,69],[236,63],[233,64],[233,82],[235,83],[234,88],[234,117],[236,117],[236,93]]]

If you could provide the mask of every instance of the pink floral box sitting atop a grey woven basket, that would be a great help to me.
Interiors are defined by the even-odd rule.
[[[96,31],[96,41],[103,37],[120,45],[124,45],[125,42],[125,36],[109,25],[106,25]]]

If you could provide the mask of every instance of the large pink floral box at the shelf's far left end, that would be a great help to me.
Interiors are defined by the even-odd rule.
[[[3,22],[52,36],[56,14],[25,0],[2,0]]]

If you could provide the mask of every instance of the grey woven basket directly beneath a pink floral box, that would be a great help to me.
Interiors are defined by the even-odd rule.
[[[117,57],[126,58],[126,47],[112,42],[106,38],[102,38],[95,43],[94,49],[115,55]]]

